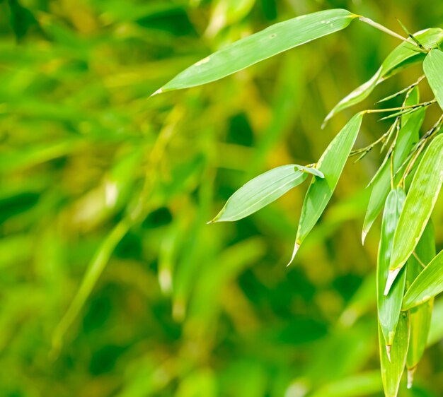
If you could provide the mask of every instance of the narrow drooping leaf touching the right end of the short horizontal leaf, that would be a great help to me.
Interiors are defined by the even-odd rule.
[[[309,189],[304,198],[303,207],[301,208],[300,223],[297,230],[294,251],[292,252],[291,261],[294,260],[295,254],[309,234],[313,226],[320,218],[330,197],[333,194],[338,179],[345,167],[347,157],[350,154],[352,146],[357,138],[364,113],[355,114],[352,119],[343,127],[328,148],[321,155],[317,163],[317,169],[325,175],[324,179],[313,178]]]

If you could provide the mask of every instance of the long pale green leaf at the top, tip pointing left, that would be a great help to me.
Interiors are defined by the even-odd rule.
[[[347,10],[319,11],[285,20],[234,42],[179,73],[156,93],[195,87],[229,76],[263,59],[347,27],[357,18]]]

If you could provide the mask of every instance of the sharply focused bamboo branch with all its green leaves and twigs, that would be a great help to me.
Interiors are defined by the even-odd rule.
[[[443,291],[443,251],[435,255],[431,213],[443,183],[443,115],[429,131],[420,133],[427,108],[443,109],[443,30],[430,28],[403,37],[379,23],[344,9],[299,16],[245,37],[193,64],[156,91],[190,88],[216,81],[252,64],[346,28],[353,20],[367,23],[401,40],[374,76],[347,95],[330,111],[325,123],[338,112],[364,100],[376,85],[422,63],[423,76],[398,93],[404,96],[397,108],[367,109],[355,114],[333,138],[316,164],[282,165],[241,186],[209,223],[245,218],[275,201],[289,189],[311,178],[301,208],[294,261],[304,239],[321,217],[345,162],[359,158],[383,143],[386,156],[369,183],[371,196],[362,228],[362,241],[380,213],[381,236],[377,261],[377,304],[381,377],[387,397],[397,396],[404,369],[408,387],[425,350],[430,329],[432,302]],[[419,83],[427,81],[435,98],[420,102]],[[366,148],[352,150],[365,116],[386,113],[391,128]]]

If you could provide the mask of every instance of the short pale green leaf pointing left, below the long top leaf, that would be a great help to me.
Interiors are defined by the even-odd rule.
[[[222,211],[209,223],[243,219],[304,182],[308,174],[324,177],[314,168],[297,164],[282,165],[258,175],[229,197]]]

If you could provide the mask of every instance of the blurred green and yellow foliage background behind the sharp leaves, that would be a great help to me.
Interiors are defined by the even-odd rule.
[[[256,174],[316,162],[357,109],[325,130],[323,117],[399,42],[354,22],[149,98],[240,37],[338,7],[397,32],[396,17],[443,27],[441,0],[0,1],[0,396],[382,396],[379,224],[360,242],[378,150],[348,163],[289,268],[307,184],[238,223],[205,223]],[[357,146],[388,126],[367,117]],[[441,249],[442,200],[434,220]],[[62,335],[94,264],[103,273]],[[443,396],[436,306],[432,348],[401,396]]]

